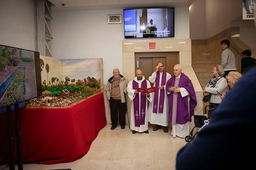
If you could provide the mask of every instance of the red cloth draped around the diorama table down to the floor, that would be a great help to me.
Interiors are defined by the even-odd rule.
[[[84,156],[106,126],[103,94],[69,108],[20,109],[20,132],[24,162],[57,164]],[[12,113],[14,128],[14,113]],[[0,115],[0,153],[8,158],[6,114]],[[2,149],[1,149],[2,148]],[[14,143],[16,158],[16,145]]]

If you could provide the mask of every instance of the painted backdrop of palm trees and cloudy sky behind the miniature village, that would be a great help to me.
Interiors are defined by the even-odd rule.
[[[70,92],[100,92],[102,59],[56,59],[40,56],[42,89],[58,95]]]

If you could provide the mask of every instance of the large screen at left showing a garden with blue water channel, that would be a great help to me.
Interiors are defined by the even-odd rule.
[[[41,95],[39,52],[0,45],[0,108]]]

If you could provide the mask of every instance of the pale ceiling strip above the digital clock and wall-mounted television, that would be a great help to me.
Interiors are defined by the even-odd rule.
[[[108,10],[142,7],[189,7],[194,0],[49,0],[53,11]],[[65,4],[62,6],[61,4]]]

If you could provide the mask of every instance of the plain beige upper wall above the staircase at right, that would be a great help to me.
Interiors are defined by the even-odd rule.
[[[242,16],[242,0],[194,0],[189,15],[190,39],[208,39]]]

